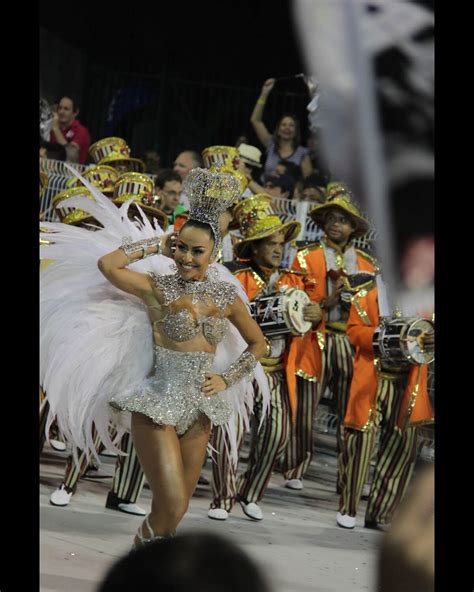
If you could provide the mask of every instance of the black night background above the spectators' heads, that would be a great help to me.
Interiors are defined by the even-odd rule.
[[[40,92],[73,93],[92,141],[124,137],[133,156],[234,145],[246,134],[263,81],[304,71],[290,2],[123,4],[40,2]],[[264,121],[295,113],[307,137],[308,92],[281,81]],[[111,106],[113,109],[111,109]],[[110,111],[109,111],[110,110]]]

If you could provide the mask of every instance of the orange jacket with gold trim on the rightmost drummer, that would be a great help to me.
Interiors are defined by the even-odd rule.
[[[363,431],[372,425],[376,407],[379,371],[372,340],[378,325],[377,288],[361,290],[353,298],[347,323],[347,335],[356,348],[356,355],[344,425]],[[411,366],[397,420],[398,427],[433,421],[427,374],[426,365]]]

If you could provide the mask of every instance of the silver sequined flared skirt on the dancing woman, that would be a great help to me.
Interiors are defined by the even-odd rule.
[[[213,360],[214,354],[208,352],[177,352],[155,345],[153,376],[133,393],[112,397],[109,403],[119,411],[143,413],[156,424],[175,426],[180,436],[202,413],[213,425],[227,423],[231,403],[219,395],[207,397],[201,391]]]

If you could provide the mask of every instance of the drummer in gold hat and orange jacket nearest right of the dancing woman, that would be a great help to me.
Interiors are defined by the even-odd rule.
[[[296,221],[283,223],[270,207],[272,199],[256,194],[241,201],[234,210],[243,240],[234,247],[240,259],[248,260],[234,268],[234,275],[242,283],[249,300],[278,293],[283,286],[303,287],[303,272],[280,268],[285,243],[293,240],[300,231]],[[262,304],[263,306],[263,304]],[[304,320],[318,322],[321,310],[316,304],[305,307]],[[258,319],[257,319],[258,322]],[[265,332],[265,330],[264,330]],[[284,363],[286,335],[267,339],[268,353],[260,361],[267,374],[270,387],[270,409],[263,416],[262,401],[256,393],[254,415],[260,429],[252,448],[247,470],[236,484],[235,468],[226,462],[224,432],[213,430],[211,445],[218,451],[213,464],[214,499],[208,512],[209,518],[226,520],[235,501],[239,501],[244,513],[253,520],[261,520],[263,513],[258,505],[272,474],[273,467],[286,448],[289,434],[289,409],[295,411],[296,401],[288,401]],[[236,425],[237,440],[242,442],[244,426]]]

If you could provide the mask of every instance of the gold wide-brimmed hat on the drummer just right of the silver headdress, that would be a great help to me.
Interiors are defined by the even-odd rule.
[[[241,259],[250,256],[252,242],[266,238],[276,232],[284,232],[285,243],[295,239],[301,224],[296,220],[283,222],[271,207],[272,198],[265,193],[246,197],[234,208],[234,218],[239,223],[243,239],[235,245],[235,255]]]

